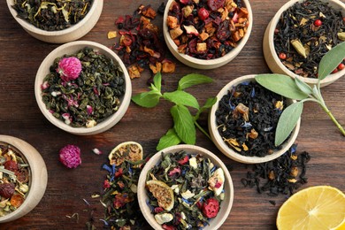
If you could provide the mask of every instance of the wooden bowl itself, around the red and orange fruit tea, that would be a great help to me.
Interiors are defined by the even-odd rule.
[[[174,0],[169,0],[165,6],[165,14],[163,18],[163,35],[165,37],[166,45],[168,46],[169,50],[173,53],[173,56],[177,58],[181,63],[188,65],[190,67],[196,68],[196,69],[214,69],[218,68],[222,65],[226,65],[228,62],[233,60],[242,50],[244,45],[249,39],[249,35],[251,32],[251,28],[253,27],[253,13],[251,11],[251,6],[249,4],[248,0],[242,0],[242,3],[245,5],[245,7],[248,10],[249,14],[249,27],[247,28],[247,33],[242,37],[242,40],[240,42],[237,42],[237,47],[228,52],[225,56],[221,58],[215,58],[215,59],[199,59],[199,58],[193,58],[187,54],[182,54],[177,50],[177,45],[175,42],[173,42],[172,37],[169,34],[169,30],[167,27],[167,17],[169,12],[169,7],[173,3]]]

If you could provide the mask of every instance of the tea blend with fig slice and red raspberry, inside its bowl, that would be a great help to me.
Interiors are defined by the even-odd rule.
[[[162,153],[147,175],[147,204],[164,229],[203,228],[218,215],[225,182],[223,170],[207,157]]]

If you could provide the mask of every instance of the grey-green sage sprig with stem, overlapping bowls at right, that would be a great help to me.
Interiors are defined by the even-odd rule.
[[[298,119],[301,117],[304,102],[318,103],[334,121],[334,124],[339,128],[341,134],[345,136],[344,128],[334,118],[332,112],[328,110],[325,100],[321,95],[320,88],[320,81],[324,80],[326,76],[332,73],[344,58],[345,42],[341,42],[332,50],[329,50],[321,59],[318,65],[318,83],[312,88],[301,80],[300,77],[296,77],[295,80],[293,80],[289,76],[282,74],[259,74],[256,76],[255,79],[263,87],[281,96],[297,100],[297,103],[289,105],[280,115],[275,134],[276,146],[284,142],[295,128]]]

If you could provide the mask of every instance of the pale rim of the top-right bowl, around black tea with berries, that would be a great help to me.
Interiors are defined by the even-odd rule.
[[[280,58],[278,57],[275,49],[274,49],[274,41],[273,41],[273,37],[274,37],[274,30],[277,27],[278,21],[280,19],[280,16],[283,12],[285,12],[286,10],[288,10],[289,7],[293,6],[295,3],[302,3],[306,0],[290,0],[288,1],[286,4],[283,4],[279,11],[275,13],[274,17],[271,19],[270,23],[267,26],[268,29],[268,48],[270,50],[270,52],[272,53],[272,58],[274,60],[274,62],[279,65],[280,69],[287,74],[288,76],[295,78],[298,77],[299,79],[303,80],[304,82],[308,83],[308,84],[317,84],[318,83],[318,79],[316,78],[303,78],[300,75],[297,75],[295,73],[293,73],[292,71],[290,71],[285,65],[283,65],[280,61]],[[321,0],[323,2],[329,3],[331,6],[333,5],[337,5],[339,6],[339,8],[342,12],[342,15],[345,16],[345,4],[341,3],[340,0]],[[334,80],[338,80],[339,78],[341,78],[341,76],[345,75],[345,69],[337,72],[337,73],[333,73],[333,74],[329,74],[326,76],[325,79],[321,80],[320,83],[321,85],[327,85],[329,83],[332,83]]]

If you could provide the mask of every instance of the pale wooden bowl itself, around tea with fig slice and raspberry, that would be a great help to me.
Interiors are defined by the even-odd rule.
[[[139,202],[139,206],[142,211],[142,214],[144,218],[148,221],[149,225],[152,226],[154,229],[163,229],[161,225],[157,224],[156,219],[154,218],[153,214],[150,212],[149,206],[146,203],[146,201],[149,199],[146,188],[145,188],[146,177],[149,170],[152,167],[154,167],[157,163],[160,162],[162,152],[165,154],[169,154],[169,153],[178,152],[180,150],[185,150],[186,152],[191,153],[191,154],[201,154],[204,157],[208,157],[214,165],[219,166],[224,171],[225,180],[226,180],[225,186],[224,186],[225,198],[222,201],[222,203],[220,203],[220,209],[219,209],[218,215],[214,219],[211,219],[209,226],[205,226],[203,228],[205,230],[218,229],[220,226],[222,226],[224,221],[226,221],[227,216],[229,215],[232,205],[233,205],[233,200],[234,200],[233,180],[231,179],[230,173],[226,169],[226,165],[224,165],[224,163],[219,159],[219,157],[211,153],[211,151],[207,149],[203,149],[195,145],[180,144],[180,145],[168,147],[166,149],[163,149],[157,152],[153,157],[149,159],[149,161],[143,167],[142,173],[140,174],[140,177],[138,180],[138,202]]]

